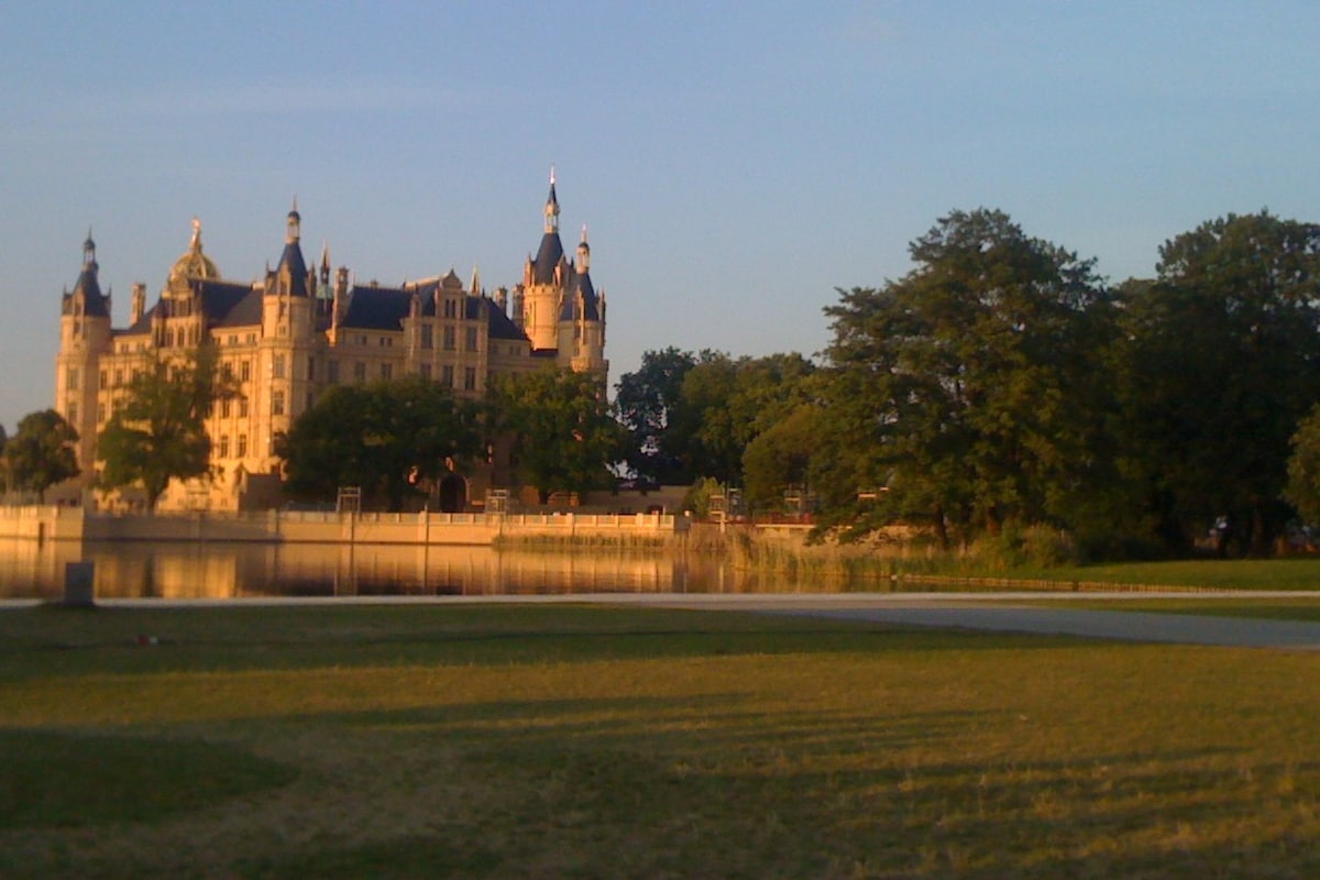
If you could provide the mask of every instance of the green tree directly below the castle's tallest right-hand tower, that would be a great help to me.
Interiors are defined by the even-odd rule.
[[[506,376],[494,385],[491,405],[499,427],[513,437],[520,479],[537,488],[543,504],[552,492],[609,484],[624,429],[595,376],[572,369]]]

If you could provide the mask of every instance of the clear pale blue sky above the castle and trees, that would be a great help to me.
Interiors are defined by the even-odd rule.
[[[611,384],[651,348],[822,350],[836,288],[953,208],[1154,272],[1228,212],[1320,218],[1320,5],[0,3],[0,424],[53,404],[91,228],[127,322],[189,243],[513,285],[590,227]]]

